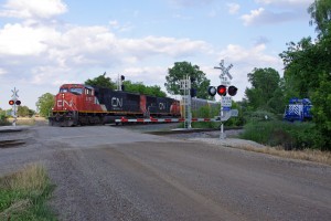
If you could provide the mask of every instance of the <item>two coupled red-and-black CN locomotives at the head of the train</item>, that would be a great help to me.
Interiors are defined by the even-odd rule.
[[[63,84],[55,95],[51,126],[109,124],[121,117],[179,117],[180,102],[84,84]]]

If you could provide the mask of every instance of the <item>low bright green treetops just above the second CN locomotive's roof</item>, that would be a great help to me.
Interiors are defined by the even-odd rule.
[[[162,92],[161,87],[158,85],[146,86],[142,84],[142,82],[131,83],[131,81],[125,81],[124,85],[126,92],[146,94],[146,95],[158,96],[158,97],[167,96],[167,94]]]

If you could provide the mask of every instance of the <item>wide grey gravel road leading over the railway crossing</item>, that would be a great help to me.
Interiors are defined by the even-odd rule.
[[[60,220],[331,220],[329,166],[126,127],[39,126],[19,136],[25,145],[0,149],[0,175],[45,165]]]

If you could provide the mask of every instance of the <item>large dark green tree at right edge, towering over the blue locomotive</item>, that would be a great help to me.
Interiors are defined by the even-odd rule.
[[[312,102],[314,129],[320,137],[314,147],[331,150],[331,6],[330,1],[317,0],[310,8],[311,18],[321,31],[319,40],[303,38],[297,44],[291,42],[280,54],[285,69],[287,96],[309,97]]]

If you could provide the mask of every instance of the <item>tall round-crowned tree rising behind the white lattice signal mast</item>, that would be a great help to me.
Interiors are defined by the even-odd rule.
[[[192,88],[196,88],[196,96],[199,98],[209,98],[207,87],[211,81],[206,78],[205,73],[200,71],[197,65],[192,65],[189,62],[175,62],[174,66],[168,70],[164,84],[168,93],[182,94],[180,91],[180,81],[189,75],[192,82]]]

